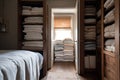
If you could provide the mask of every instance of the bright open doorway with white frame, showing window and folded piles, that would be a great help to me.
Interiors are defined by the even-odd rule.
[[[78,73],[77,9],[51,11],[51,67],[56,63],[74,64]]]

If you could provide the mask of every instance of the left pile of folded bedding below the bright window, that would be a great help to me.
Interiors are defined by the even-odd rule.
[[[62,40],[56,40],[54,43],[55,61],[64,61],[64,45]]]

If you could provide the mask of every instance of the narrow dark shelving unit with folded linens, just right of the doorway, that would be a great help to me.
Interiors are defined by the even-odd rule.
[[[92,34],[92,35],[89,35],[89,34]],[[83,41],[84,41],[83,49],[84,49],[84,59],[85,59],[84,60],[85,72],[86,73],[96,72],[96,0],[84,0],[84,38],[83,38]],[[91,60],[91,57],[92,59],[94,58],[94,60]]]

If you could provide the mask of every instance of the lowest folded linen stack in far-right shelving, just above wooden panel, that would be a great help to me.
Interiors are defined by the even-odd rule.
[[[105,41],[105,50],[115,52],[115,40],[108,39]]]

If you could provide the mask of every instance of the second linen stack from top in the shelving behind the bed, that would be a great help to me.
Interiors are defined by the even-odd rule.
[[[26,17],[24,23],[43,23],[43,17]]]

